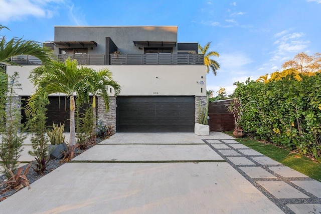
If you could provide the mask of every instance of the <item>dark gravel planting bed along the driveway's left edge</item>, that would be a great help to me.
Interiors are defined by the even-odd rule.
[[[103,139],[100,139],[100,138],[96,139],[96,144],[100,143],[102,140]],[[92,145],[89,145],[87,147],[87,149],[89,149],[91,147],[92,147]],[[81,150],[81,149],[76,148],[75,149],[75,157],[78,156],[79,154],[83,153],[86,150],[85,149]],[[23,172],[27,168],[28,164],[29,163],[26,163],[26,165],[22,166],[23,167]],[[35,182],[36,180],[42,178],[46,174],[52,172],[53,170],[55,170],[59,166],[62,166],[64,164],[64,162],[61,162],[61,159],[50,160],[48,162],[47,170],[45,171],[44,175],[38,174],[37,172],[35,172],[32,169],[32,167],[36,168],[36,164],[37,164],[37,162],[35,160],[32,161],[31,167],[30,167],[30,169],[29,169],[29,171],[27,173],[27,178],[28,178],[30,184]],[[5,175],[0,175],[0,203],[1,203],[1,201],[5,200],[6,198],[10,197],[11,195],[13,195],[14,193],[17,192],[17,190],[15,190],[15,189],[7,191],[7,192],[3,192],[3,189],[5,188],[5,186],[3,186],[3,183],[4,183],[4,181],[6,179],[7,179],[7,177]],[[28,188],[28,187],[25,187],[25,188]]]

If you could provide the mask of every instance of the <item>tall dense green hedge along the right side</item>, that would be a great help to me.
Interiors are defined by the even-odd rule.
[[[237,82],[233,96],[244,106],[245,132],[277,145],[321,156],[321,73],[297,81],[286,76],[268,83]]]

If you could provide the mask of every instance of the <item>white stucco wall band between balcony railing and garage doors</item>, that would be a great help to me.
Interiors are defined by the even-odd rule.
[[[19,82],[23,90],[20,96],[29,96],[35,89],[28,80],[32,69],[37,66],[8,66],[7,73],[20,73]],[[113,79],[121,86],[122,96],[206,96],[205,66],[88,66],[95,70],[108,68]],[[201,78],[203,76],[203,78]],[[157,77],[157,78],[156,78]],[[201,85],[200,82],[204,84]],[[201,92],[201,88],[202,91]],[[112,95],[112,94],[111,94]]]

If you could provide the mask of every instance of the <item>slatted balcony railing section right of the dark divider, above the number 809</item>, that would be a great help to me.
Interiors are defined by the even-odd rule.
[[[111,54],[110,65],[204,65],[202,54]]]

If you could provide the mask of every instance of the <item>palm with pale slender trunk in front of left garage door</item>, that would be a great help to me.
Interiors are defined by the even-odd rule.
[[[75,96],[77,102],[85,102],[88,91],[102,96],[108,109],[108,94],[105,85],[108,77],[98,76],[95,70],[87,67],[77,67],[77,60],[66,59],[64,62],[55,62],[47,66],[41,66],[32,71],[31,82],[37,86],[36,93],[33,94],[27,103],[27,110],[33,114],[38,113],[42,100],[49,104],[48,95],[52,93],[64,93],[70,100],[70,137],[69,145],[76,145],[75,136]],[[110,74],[111,75],[111,74]],[[99,80],[100,78],[100,80]],[[102,87],[104,86],[104,87]],[[98,90],[99,89],[99,90]],[[87,94],[85,96],[85,93]],[[78,96],[79,95],[79,96]]]

